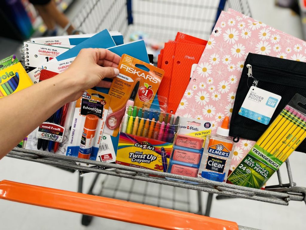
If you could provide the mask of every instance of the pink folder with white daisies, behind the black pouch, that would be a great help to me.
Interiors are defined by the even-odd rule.
[[[222,12],[192,75],[176,114],[210,120],[212,133],[231,116],[248,53],[306,61],[306,43],[235,10]],[[255,141],[240,139],[231,170]]]

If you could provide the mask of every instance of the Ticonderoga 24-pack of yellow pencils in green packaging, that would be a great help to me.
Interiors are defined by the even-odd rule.
[[[306,137],[306,98],[295,94],[227,182],[260,189]]]

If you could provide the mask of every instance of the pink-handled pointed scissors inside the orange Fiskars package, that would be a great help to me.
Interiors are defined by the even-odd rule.
[[[115,129],[120,125],[120,121],[124,115],[124,111],[126,106],[134,106],[134,101],[137,95],[137,91],[139,88],[139,81],[136,82],[134,89],[131,93],[131,96],[129,98],[129,100],[126,102],[126,105],[123,105],[119,110],[117,110],[116,112],[111,113],[110,115],[108,115],[108,117],[106,117],[106,126],[109,129]]]

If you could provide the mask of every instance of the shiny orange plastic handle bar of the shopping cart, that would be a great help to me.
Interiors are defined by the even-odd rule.
[[[162,229],[238,230],[227,220],[6,180],[0,181],[0,198]]]

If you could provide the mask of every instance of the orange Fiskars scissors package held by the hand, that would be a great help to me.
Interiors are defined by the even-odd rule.
[[[162,81],[164,71],[127,54],[118,65],[119,75],[113,79],[109,94],[110,109],[104,133],[117,136],[127,105],[150,108]]]

